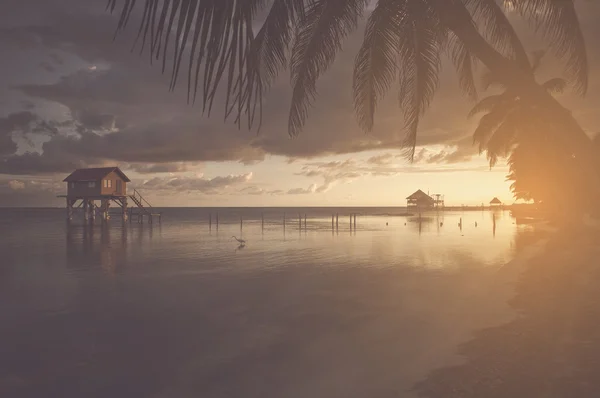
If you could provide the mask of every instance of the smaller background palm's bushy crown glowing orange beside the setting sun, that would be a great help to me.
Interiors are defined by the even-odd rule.
[[[532,71],[537,72],[545,53],[536,51],[532,55]],[[510,87],[504,87],[491,72],[482,76],[483,89],[499,85],[504,88],[500,94],[491,95],[479,101],[469,112],[469,117],[485,113],[473,134],[473,142],[479,146],[479,153],[486,152],[490,168],[496,165],[499,157],[507,157],[520,140],[537,131],[553,131],[545,117],[546,112],[538,104],[528,102]],[[554,78],[541,84],[549,94],[562,93],[567,82]],[[547,138],[547,137],[546,137]],[[531,141],[531,139],[529,139]]]

